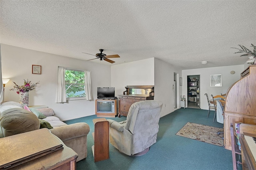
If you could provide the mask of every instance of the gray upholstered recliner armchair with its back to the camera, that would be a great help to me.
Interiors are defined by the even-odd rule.
[[[162,102],[139,101],[129,109],[126,121],[108,119],[110,143],[127,155],[142,155],[156,143]]]

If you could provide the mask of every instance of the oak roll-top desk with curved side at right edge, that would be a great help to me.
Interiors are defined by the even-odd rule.
[[[226,93],[224,109],[224,145],[231,150],[230,123],[256,125],[256,65],[241,73],[241,79],[231,85]]]

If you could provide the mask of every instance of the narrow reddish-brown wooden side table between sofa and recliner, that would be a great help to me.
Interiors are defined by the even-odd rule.
[[[109,122],[105,118],[92,121],[94,123],[92,154],[94,162],[98,162],[109,158]]]

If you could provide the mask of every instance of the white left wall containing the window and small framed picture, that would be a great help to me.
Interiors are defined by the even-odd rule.
[[[58,66],[88,70],[92,76],[92,93],[97,98],[97,87],[110,87],[110,66],[93,63],[1,44],[2,77],[10,81],[6,84],[4,101],[19,102],[16,91],[10,91],[14,81],[23,84],[23,79],[32,83],[40,81],[34,91],[30,91],[29,105],[47,105],[54,109],[61,120],[75,119],[95,114],[95,101],[76,100],[68,103],[55,103]],[[41,65],[42,74],[32,74],[32,65]]]

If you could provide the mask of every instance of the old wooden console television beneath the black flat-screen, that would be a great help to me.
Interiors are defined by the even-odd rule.
[[[95,111],[98,117],[115,117],[118,111],[117,99],[106,100],[97,99],[95,100]]]

